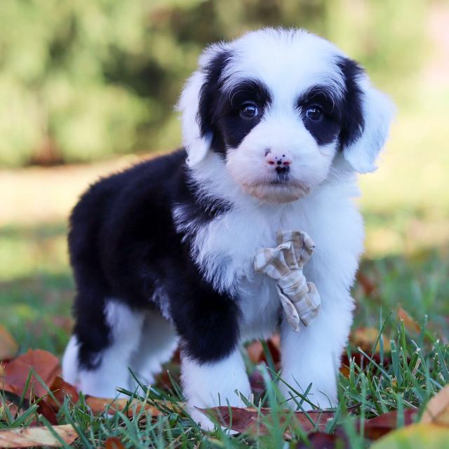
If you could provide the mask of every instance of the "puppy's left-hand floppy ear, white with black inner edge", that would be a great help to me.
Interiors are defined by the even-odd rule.
[[[181,112],[182,144],[187,151],[189,166],[199,163],[212,144],[214,105],[229,57],[225,43],[215,43],[206,48],[199,58],[199,69],[187,80],[177,103]]]

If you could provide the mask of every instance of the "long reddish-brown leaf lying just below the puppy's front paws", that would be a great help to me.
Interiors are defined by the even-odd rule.
[[[228,427],[234,431],[242,433],[248,431],[251,434],[264,435],[267,434],[268,430],[265,427],[262,418],[265,420],[270,417],[269,408],[239,408],[239,407],[213,407],[213,408],[199,408],[201,412],[205,415],[210,415],[219,422],[222,426]],[[286,410],[284,415],[280,416],[281,422],[286,420],[286,417],[290,415],[290,411]],[[263,415],[263,416],[262,416]],[[309,415],[309,417],[307,417]],[[295,417],[299,424],[302,426],[305,432],[323,431],[326,429],[326,424],[328,420],[332,419],[334,416],[333,412],[326,410],[314,410],[307,414],[302,412],[295,412]],[[312,421],[312,422],[311,422]],[[286,435],[289,438],[289,435]]]

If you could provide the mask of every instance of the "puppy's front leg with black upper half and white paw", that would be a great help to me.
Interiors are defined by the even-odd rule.
[[[228,403],[242,406],[236,390],[245,397],[250,394],[239,350],[239,307],[235,298],[217,293],[192,272],[178,276],[170,287],[170,309],[181,339],[181,377],[187,408],[201,427],[213,428],[198,408]]]

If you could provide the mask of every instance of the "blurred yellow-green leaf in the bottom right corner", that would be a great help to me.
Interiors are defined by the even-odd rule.
[[[448,427],[420,422],[390,432],[370,449],[447,449],[448,441]]]

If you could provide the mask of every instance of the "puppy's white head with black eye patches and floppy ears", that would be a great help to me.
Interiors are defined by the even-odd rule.
[[[374,170],[393,110],[356,62],[291,29],[207,48],[179,107],[189,166],[219,153],[245,192],[272,202],[321,184],[338,152]]]

